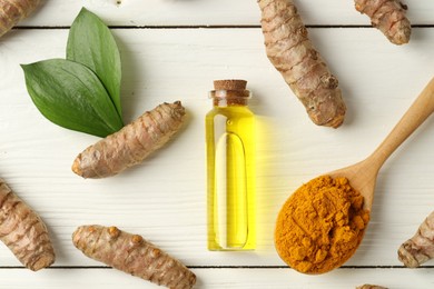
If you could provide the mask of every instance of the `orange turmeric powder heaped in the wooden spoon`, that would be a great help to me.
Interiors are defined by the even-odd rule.
[[[322,176],[302,186],[283,206],[275,246],[280,258],[304,273],[324,273],[357,249],[369,212],[346,178]]]

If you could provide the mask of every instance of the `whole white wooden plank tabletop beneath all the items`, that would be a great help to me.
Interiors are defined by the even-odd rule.
[[[197,288],[434,288],[434,262],[406,269],[396,250],[434,209],[434,118],[381,170],[372,221],[342,268],[306,276],[273,245],[286,198],[315,176],[367,157],[434,76],[434,2],[406,0],[414,28],[396,47],[369,27],[352,0],[296,1],[318,50],[338,77],[348,107],[337,130],[316,127],[265,54],[255,0],[45,1],[0,39],[0,176],[47,222],[57,261],[24,269],[0,245],[0,288],[155,288],[88,259],[71,243],[85,223],[116,225],[165,249],[197,275]],[[65,58],[81,7],[112,29],[122,58],[126,122],[164,101],[188,109],[184,131],[142,166],[102,180],[70,170],[97,138],[46,120],[27,93],[20,63]],[[258,143],[258,246],[254,252],[206,249],[204,116],[213,80],[241,78],[253,91]]]

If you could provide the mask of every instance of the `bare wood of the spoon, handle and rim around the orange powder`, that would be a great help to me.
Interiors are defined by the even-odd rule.
[[[424,88],[400,122],[365,160],[329,172],[333,178],[346,177],[365,198],[364,208],[372,209],[378,171],[387,158],[434,112],[434,78]]]

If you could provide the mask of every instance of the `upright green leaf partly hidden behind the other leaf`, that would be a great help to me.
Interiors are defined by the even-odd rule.
[[[67,59],[87,66],[98,76],[122,118],[119,50],[108,27],[86,8],[69,30]]]

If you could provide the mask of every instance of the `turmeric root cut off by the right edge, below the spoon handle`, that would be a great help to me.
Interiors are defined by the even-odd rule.
[[[434,211],[422,222],[413,238],[398,249],[404,266],[416,268],[434,258]]]

